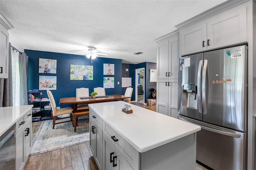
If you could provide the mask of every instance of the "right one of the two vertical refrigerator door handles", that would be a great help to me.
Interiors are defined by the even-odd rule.
[[[204,67],[203,67],[203,75],[202,75],[202,103],[203,103],[203,109],[204,109],[204,115],[207,114],[207,101],[206,101],[206,72],[208,67],[208,61],[207,59],[204,60]]]

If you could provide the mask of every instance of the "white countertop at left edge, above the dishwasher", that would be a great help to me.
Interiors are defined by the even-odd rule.
[[[0,107],[0,136],[24,116],[33,105]]]

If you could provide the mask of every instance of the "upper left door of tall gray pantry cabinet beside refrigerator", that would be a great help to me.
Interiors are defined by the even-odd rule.
[[[157,44],[157,79],[168,79],[169,41],[164,40]]]

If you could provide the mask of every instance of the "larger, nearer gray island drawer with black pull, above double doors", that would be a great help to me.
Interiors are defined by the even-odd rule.
[[[134,169],[138,168],[139,152],[129,144],[118,132],[112,127],[103,122],[104,134],[110,139],[110,141],[120,150],[120,153],[126,158],[126,160],[132,165]]]

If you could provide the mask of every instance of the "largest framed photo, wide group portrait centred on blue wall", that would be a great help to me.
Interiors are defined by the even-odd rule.
[[[93,80],[93,65],[70,65],[70,80]]]

